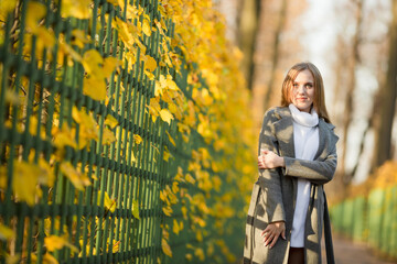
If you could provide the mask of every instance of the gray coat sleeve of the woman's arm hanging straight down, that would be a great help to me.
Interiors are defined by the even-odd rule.
[[[258,155],[260,150],[270,150],[278,153],[278,142],[273,129],[275,110],[265,113],[262,128],[259,134]],[[259,169],[258,184],[264,191],[264,202],[269,222],[286,221],[286,213],[281,194],[280,168]]]

